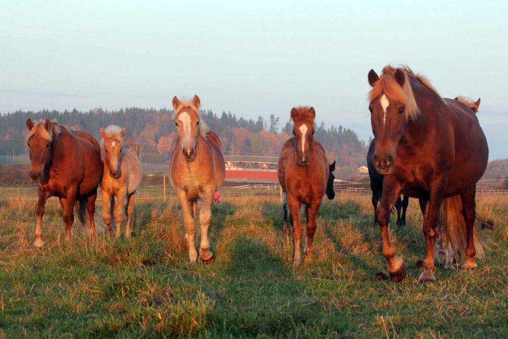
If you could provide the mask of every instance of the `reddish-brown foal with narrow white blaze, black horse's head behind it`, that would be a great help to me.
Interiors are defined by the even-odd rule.
[[[325,149],[314,139],[315,114],[312,107],[296,107],[291,110],[294,137],[282,146],[277,169],[280,186],[287,194],[291,211],[295,267],[301,261],[300,240],[303,228],[300,207],[305,204],[307,237],[304,254],[311,260],[317,211],[321,207],[330,174]]]

